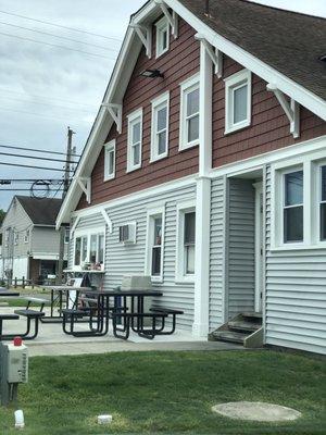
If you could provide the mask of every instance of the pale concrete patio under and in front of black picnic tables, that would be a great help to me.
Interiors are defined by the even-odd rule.
[[[13,313],[14,308],[1,307],[2,313]],[[26,319],[4,322],[4,333],[24,332]],[[87,331],[87,324],[78,325],[80,331]],[[150,350],[239,350],[239,345],[218,341],[204,341],[195,339],[190,332],[176,331],[171,336],[156,336],[154,340],[147,340],[131,333],[127,341],[116,339],[112,333],[104,337],[71,337],[62,332],[62,325],[40,324],[39,335],[36,339],[25,343],[29,349],[29,356],[61,356],[86,355],[120,351],[150,351]]]

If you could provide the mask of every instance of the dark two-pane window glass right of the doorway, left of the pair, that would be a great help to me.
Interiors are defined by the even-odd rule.
[[[284,241],[303,241],[303,171],[284,174]]]

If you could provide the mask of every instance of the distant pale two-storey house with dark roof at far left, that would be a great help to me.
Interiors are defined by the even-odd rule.
[[[55,275],[60,233],[55,219],[61,199],[15,196],[2,222],[2,271],[9,278],[42,282]],[[65,240],[65,259],[68,234]]]

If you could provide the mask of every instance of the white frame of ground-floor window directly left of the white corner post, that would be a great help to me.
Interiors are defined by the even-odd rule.
[[[195,283],[195,273],[186,274],[185,259],[185,214],[196,213],[196,200],[191,199],[177,204],[176,222],[176,258],[175,258],[175,281],[176,283]],[[196,245],[195,245],[196,250]]]

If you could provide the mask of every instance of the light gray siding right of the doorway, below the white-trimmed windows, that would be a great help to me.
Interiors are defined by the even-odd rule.
[[[271,207],[267,167],[266,344],[326,353],[326,250],[271,251]]]

